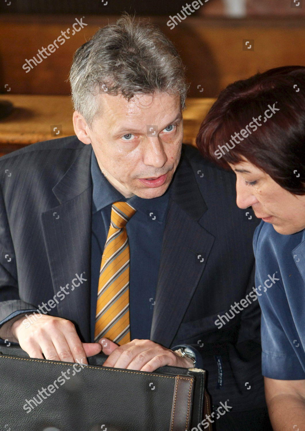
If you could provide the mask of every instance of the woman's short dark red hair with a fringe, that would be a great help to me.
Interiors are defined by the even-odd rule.
[[[263,122],[268,105],[279,110]],[[259,116],[257,130],[229,143]],[[220,151],[226,143],[232,149]],[[305,67],[278,67],[228,85],[203,120],[196,144],[224,168],[247,159],[287,191],[305,194]]]

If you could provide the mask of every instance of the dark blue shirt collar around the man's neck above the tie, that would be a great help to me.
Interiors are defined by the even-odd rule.
[[[101,172],[98,166],[97,158],[92,150],[91,153],[91,178],[93,185],[92,192],[92,214],[100,211],[112,204],[113,202],[127,202],[133,206],[136,210],[144,212],[147,214],[148,219],[151,212],[157,215],[157,220],[162,222],[166,213],[167,203],[170,196],[170,186],[167,191],[159,197],[154,197],[152,199],[143,199],[136,195],[126,198],[121,194],[112,184],[107,180],[107,177]]]

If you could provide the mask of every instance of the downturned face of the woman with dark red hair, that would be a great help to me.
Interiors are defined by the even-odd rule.
[[[252,206],[258,219],[271,223],[282,235],[305,228],[305,195],[294,195],[277,184],[270,175],[247,159],[232,165],[236,173],[236,203],[239,208]]]

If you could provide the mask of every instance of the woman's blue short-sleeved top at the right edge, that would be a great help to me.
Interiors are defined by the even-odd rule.
[[[253,248],[262,373],[279,380],[305,379],[305,230],[281,235],[262,221]]]

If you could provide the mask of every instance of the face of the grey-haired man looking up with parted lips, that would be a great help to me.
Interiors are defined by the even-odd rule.
[[[121,94],[98,97],[101,114],[87,131],[107,180],[125,197],[161,196],[181,155],[179,96],[139,94],[129,102]]]

